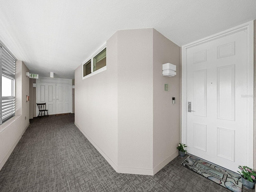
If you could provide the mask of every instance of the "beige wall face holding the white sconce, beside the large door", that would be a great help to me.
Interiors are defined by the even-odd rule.
[[[157,172],[166,162],[178,156],[180,141],[180,47],[154,30],[153,85],[154,85],[154,156],[153,168]],[[162,64],[176,65],[176,76],[162,75]],[[169,91],[164,90],[169,84]],[[175,97],[176,104],[172,104]]]

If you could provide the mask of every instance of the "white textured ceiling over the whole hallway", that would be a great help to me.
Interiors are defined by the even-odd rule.
[[[73,79],[117,30],[155,28],[182,46],[254,19],[255,0],[5,0],[0,41],[30,73]]]

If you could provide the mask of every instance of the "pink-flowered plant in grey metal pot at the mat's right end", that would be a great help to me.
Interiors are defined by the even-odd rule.
[[[252,189],[255,184],[255,171],[247,166],[238,166],[238,168],[241,170],[238,173],[242,176],[242,185],[248,189]]]

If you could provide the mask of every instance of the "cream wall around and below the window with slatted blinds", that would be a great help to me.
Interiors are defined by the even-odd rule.
[[[26,65],[16,61],[16,116],[0,125],[0,169],[29,125],[29,102],[26,102],[29,78],[26,72],[29,72]]]

